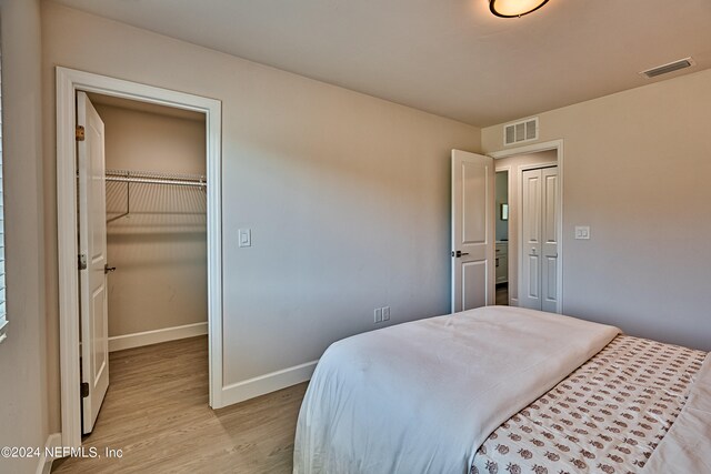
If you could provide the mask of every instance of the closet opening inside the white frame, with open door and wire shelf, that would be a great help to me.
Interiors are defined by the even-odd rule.
[[[170,357],[189,350],[190,370],[207,375],[208,183],[203,113],[81,91],[77,110],[86,131],[78,147],[79,246],[89,266],[79,272],[80,292],[89,295],[80,297],[86,435],[110,367],[127,357],[118,351],[197,337],[170,345]],[[142,353],[154,364],[169,357]],[[141,371],[130,376],[146,375]],[[151,376],[171,372],[153,369]],[[207,392],[207,380],[196,389]]]

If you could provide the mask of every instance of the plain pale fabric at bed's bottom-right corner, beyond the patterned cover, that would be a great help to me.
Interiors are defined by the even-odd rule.
[[[711,354],[689,400],[644,466],[644,474],[711,473]]]

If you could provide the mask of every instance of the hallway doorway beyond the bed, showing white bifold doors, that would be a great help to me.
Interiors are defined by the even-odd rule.
[[[490,155],[497,171],[497,304],[560,313],[563,142]]]

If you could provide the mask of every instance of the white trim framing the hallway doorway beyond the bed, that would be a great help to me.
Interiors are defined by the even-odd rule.
[[[550,151],[550,150],[555,150],[557,152],[557,165],[558,165],[558,229],[557,229],[557,239],[558,239],[558,263],[555,265],[555,271],[558,272],[558,281],[557,281],[557,293],[558,293],[558,303],[555,304],[555,312],[557,313],[561,313],[563,312],[563,140],[552,140],[552,141],[547,141],[547,142],[541,142],[541,143],[533,143],[530,145],[525,145],[525,147],[517,147],[517,148],[512,148],[509,150],[500,150],[500,151],[494,151],[491,153],[488,153],[489,157],[493,158],[494,160],[498,159],[502,159],[502,158],[510,158],[510,157],[518,157],[521,154],[531,154],[531,153],[537,153],[540,151]],[[552,163],[551,163],[552,164]],[[533,168],[541,168],[542,165],[537,164]],[[494,161],[494,168],[495,168],[495,161]],[[525,168],[525,167],[518,167],[519,169],[517,169],[517,173],[521,173],[521,169],[520,168]],[[511,178],[511,175],[509,175],[509,179]],[[510,190],[511,188],[509,188]],[[521,198],[521,192],[519,192],[519,199],[517,201],[520,201]],[[519,206],[520,210],[520,202],[515,203],[517,206]],[[519,210],[517,210],[517,214],[519,214],[519,219],[520,219],[520,212],[518,212]],[[517,230],[517,238],[519,241],[519,245],[521,246],[521,226],[519,225],[519,229]],[[519,251],[519,269],[518,269],[518,275],[520,275],[520,271],[521,271],[521,259],[520,255],[521,252]],[[510,269],[510,266],[509,266]],[[517,288],[518,288],[518,283],[517,282]],[[509,295],[509,301],[511,301],[511,295]],[[518,299],[517,299],[518,301]]]

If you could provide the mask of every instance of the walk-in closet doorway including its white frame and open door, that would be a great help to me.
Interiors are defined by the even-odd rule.
[[[119,153],[132,142],[122,137],[102,145],[107,131],[112,139],[101,111],[114,132],[116,123],[133,128],[128,135],[134,144],[161,135],[160,121],[197,122],[163,144],[181,143],[182,153],[193,148],[184,142],[192,133],[199,137],[193,151],[200,151],[181,159],[173,149],[171,159],[152,161],[143,141],[136,153]],[[137,113],[152,119],[138,120]],[[111,349],[207,332],[209,405],[222,406],[220,117],[213,99],[57,68],[63,446],[81,446],[82,432],[91,431],[109,382]],[[198,154],[201,160],[194,160]],[[122,317],[112,319],[112,310]]]

